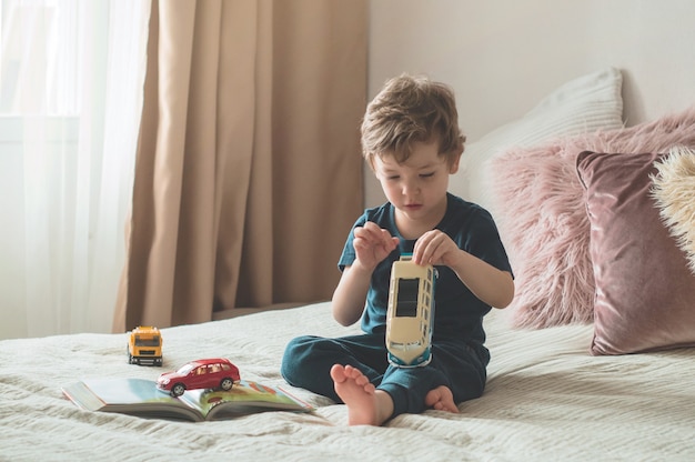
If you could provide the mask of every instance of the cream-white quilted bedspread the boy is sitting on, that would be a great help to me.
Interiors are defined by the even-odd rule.
[[[460,414],[400,415],[345,425],[342,405],[303,390],[312,414],[270,412],[222,422],[144,420],[81,411],[61,386],[97,376],[155,379],[207,356],[242,376],[284,384],[280,360],[298,334],[342,335],[328,304],[163,330],[164,366],[127,363],[125,334],[0,342],[0,460],[140,461],[692,461],[695,350],[594,358],[591,327],[514,331],[487,317],[485,394]]]

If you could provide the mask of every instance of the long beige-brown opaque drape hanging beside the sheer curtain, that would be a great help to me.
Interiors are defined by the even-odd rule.
[[[362,211],[366,0],[153,1],[148,48],[113,330],[329,299]]]

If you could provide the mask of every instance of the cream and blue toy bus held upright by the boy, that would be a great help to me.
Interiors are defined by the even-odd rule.
[[[403,254],[391,267],[386,311],[389,362],[401,368],[426,365],[432,359],[436,270]]]

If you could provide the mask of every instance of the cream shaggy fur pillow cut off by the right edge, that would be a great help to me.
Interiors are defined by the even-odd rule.
[[[652,194],[662,220],[695,274],[695,150],[676,147],[656,163]]]

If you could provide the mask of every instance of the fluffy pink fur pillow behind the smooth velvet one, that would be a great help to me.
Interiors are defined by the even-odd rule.
[[[491,162],[495,221],[516,277],[507,308],[515,327],[541,329],[594,319],[582,151],[666,152],[695,148],[695,107],[635,127],[511,149]]]

